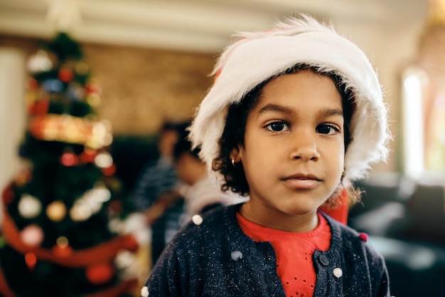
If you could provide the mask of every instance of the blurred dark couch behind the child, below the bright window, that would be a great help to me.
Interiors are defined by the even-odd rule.
[[[355,185],[362,204],[350,208],[348,224],[370,235],[385,257],[392,295],[445,297],[444,182],[413,181],[382,173]]]

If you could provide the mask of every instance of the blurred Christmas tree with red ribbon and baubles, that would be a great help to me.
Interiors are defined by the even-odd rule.
[[[2,194],[0,296],[132,296],[125,266],[138,244],[117,230],[126,208],[109,123],[95,115],[100,87],[66,33],[28,71],[27,166]]]

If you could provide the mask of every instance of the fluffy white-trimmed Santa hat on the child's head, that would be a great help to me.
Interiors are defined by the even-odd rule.
[[[377,75],[358,46],[306,15],[280,22],[269,31],[238,36],[240,40],[220,56],[213,71],[218,77],[191,125],[191,141],[200,146],[200,157],[209,169],[219,157],[229,105],[298,64],[336,73],[353,92],[356,108],[350,123],[353,140],[345,155],[346,177],[364,177],[372,163],[386,160],[390,140],[387,107]]]

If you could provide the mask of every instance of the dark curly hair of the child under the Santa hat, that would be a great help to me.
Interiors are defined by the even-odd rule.
[[[272,78],[276,78],[280,75],[297,73],[299,71],[309,69],[314,73],[325,75],[333,80],[336,84],[338,91],[342,96],[343,105],[343,118],[344,118],[344,131],[345,131],[345,151],[348,149],[349,143],[352,141],[350,133],[350,121],[355,110],[355,100],[353,96],[353,90],[347,89],[345,83],[342,82],[341,77],[336,73],[323,72],[321,69],[308,66],[306,64],[299,64],[293,68],[289,68],[284,73],[275,75]],[[260,83],[255,88],[250,90],[239,103],[234,103],[229,106],[227,112],[227,118],[225,120],[225,127],[223,135],[219,140],[220,155],[213,160],[212,169],[216,172],[220,172],[223,175],[225,182],[223,182],[221,189],[225,192],[231,190],[242,196],[249,194],[249,184],[245,177],[244,168],[242,163],[232,166],[232,160],[230,160],[230,153],[233,149],[236,149],[238,145],[244,145],[245,140],[245,127],[247,123],[247,116],[255,108],[259,102],[259,97],[262,93],[264,85],[266,85],[272,78]],[[359,199],[359,193],[352,187],[348,189],[348,197],[350,202],[356,202]],[[337,196],[333,195],[332,202]],[[332,203],[334,205],[335,203]]]

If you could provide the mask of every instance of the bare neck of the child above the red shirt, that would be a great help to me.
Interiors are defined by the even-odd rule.
[[[318,226],[317,212],[289,215],[274,212],[267,207],[257,207],[252,202],[245,202],[239,210],[242,217],[271,229],[288,232],[309,232]],[[274,212],[274,213],[273,213]]]

